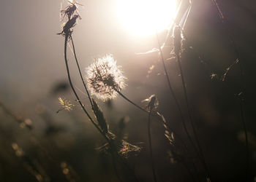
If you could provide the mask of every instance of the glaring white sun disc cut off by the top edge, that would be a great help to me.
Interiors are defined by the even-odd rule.
[[[176,0],[118,0],[119,20],[137,36],[163,31],[176,16]]]

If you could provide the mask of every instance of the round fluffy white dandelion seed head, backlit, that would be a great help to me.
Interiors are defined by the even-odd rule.
[[[98,58],[88,68],[86,68],[89,90],[92,95],[106,101],[116,98],[118,92],[126,87],[120,66],[116,66],[113,55],[105,55]]]

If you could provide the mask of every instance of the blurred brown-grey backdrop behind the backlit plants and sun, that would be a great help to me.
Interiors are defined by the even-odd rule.
[[[73,39],[82,74],[86,75],[85,69],[94,58],[113,54],[128,78],[122,93],[140,106],[143,106],[142,100],[157,95],[158,109],[165,115],[167,124],[187,141],[158,53],[137,54],[158,48],[156,35],[129,31],[118,14],[117,0],[81,0],[79,3],[83,4],[78,9],[82,20],[78,20],[74,28]],[[104,138],[78,106],[67,81],[64,37],[56,35],[61,31],[61,4],[63,9],[67,2],[1,2],[0,181],[118,181],[110,155],[96,150],[105,143]],[[219,7],[227,20],[224,25],[212,1],[192,1],[184,27],[190,48],[181,55],[181,63],[189,106],[212,181],[244,181],[246,145],[239,104],[244,100],[249,135],[249,181],[256,181],[256,2],[226,0],[219,1]],[[181,9],[181,15],[185,10]],[[131,9],[131,16],[133,13]],[[241,80],[238,63],[230,68],[225,81],[220,80],[237,59],[229,34],[239,52],[244,80]],[[162,44],[167,31],[159,31],[158,35]],[[85,106],[90,108],[72,52],[68,51],[72,81],[81,90],[78,93]],[[172,57],[170,49],[164,50],[164,56],[165,59]],[[169,59],[166,65],[189,124],[178,63]],[[61,107],[59,97],[70,100],[74,109],[56,114]],[[98,103],[110,130],[141,147],[140,154],[127,159],[127,164],[134,167],[139,181],[153,181],[148,160],[147,114],[120,96],[106,103],[98,100]],[[170,144],[164,132],[162,124],[157,120],[152,122],[159,181],[192,181],[184,166],[170,161],[167,152]],[[189,132],[192,133],[190,126]],[[204,173],[196,159],[195,164],[200,173]]]

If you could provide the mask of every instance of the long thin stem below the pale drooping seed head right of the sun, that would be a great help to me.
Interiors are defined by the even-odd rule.
[[[203,150],[200,146],[200,142],[199,142],[199,139],[197,137],[197,132],[195,130],[195,125],[194,125],[194,122],[192,120],[192,114],[191,114],[191,111],[190,111],[190,108],[189,108],[189,100],[187,98],[187,88],[186,88],[186,84],[185,84],[185,81],[184,81],[184,74],[183,74],[183,71],[182,71],[181,61],[180,61],[179,55],[176,54],[176,58],[178,60],[178,68],[179,68],[180,73],[181,73],[181,82],[182,82],[182,87],[183,87],[183,90],[184,90],[184,98],[185,98],[186,105],[187,105],[187,111],[188,111],[188,114],[189,114],[189,121],[190,121],[190,124],[192,126],[193,133],[195,135],[195,140],[197,141],[197,146],[198,146],[198,149],[199,149],[199,152],[200,152],[200,155],[201,155],[203,165],[206,168],[206,173],[208,175],[207,177],[210,178],[208,167],[206,165],[206,160],[205,160],[205,157],[203,156]]]

